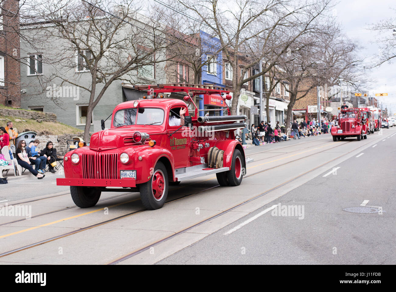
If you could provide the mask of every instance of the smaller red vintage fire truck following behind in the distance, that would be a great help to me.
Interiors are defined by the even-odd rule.
[[[331,127],[333,141],[344,140],[348,137],[356,137],[358,141],[361,138],[367,139],[366,120],[362,119],[362,112],[358,108],[341,109],[338,114],[338,125]]]

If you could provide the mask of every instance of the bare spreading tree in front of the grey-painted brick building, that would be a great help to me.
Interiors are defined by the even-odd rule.
[[[52,66],[49,80],[89,93],[86,141],[92,111],[114,81],[147,83],[154,74],[164,75],[154,71],[155,64],[172,58],[166,55],[172,44],[162,13],[146,17],[139,7],[127,0],[47,0],[34,6],[25,24],[23,38],[37,52],[47,52],[43,62]],[[33,22],[37,15],[39,21]]]

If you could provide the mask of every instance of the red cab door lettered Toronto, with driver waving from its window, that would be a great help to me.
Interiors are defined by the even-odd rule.
[[[187,125],[181,127],[180,108],[181,106],[173,106],[168,113],[167,119],[168,149],[173,154],[175,169],[188,166],[190,153],[191,130]],[[186,114],[188,114],[188,111]],[[171,120],[174,122],[176,121],[175,119],[179,121],[178,125],[170,125],[169,122]]]

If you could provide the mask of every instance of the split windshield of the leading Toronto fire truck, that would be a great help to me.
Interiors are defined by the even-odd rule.
[[[164,110],[160,108],[120,109],[114,115],[113,126],[161,125],[164,122],[164,115]]]

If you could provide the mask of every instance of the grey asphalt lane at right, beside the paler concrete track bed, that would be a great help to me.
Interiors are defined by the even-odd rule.
[[[373,146],[159,264],[395,264],[396,135]],[[279,204],[281,216],[272,209],[225,235]],[[368,206],[383,212],[343,210]]]

